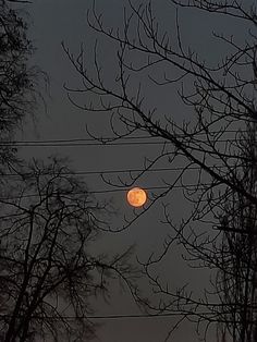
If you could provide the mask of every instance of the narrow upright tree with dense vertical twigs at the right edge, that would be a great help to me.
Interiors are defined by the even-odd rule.
[[[256,122],[248,123],[248,139],[242,150],[248,161],[242,170],[242,185],[256,196]],[[217,248],[219,265],[216,288],[223,307],[221,314],[233,341],[257,338],[257,231],[256,203],[232,191],[222,205],[220,224],[222,243]]]

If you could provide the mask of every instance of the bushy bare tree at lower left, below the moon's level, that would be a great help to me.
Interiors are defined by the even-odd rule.
[[[133,280],[131,249],[109,256],[89,252],[105,229],[108,205],[96,203],[57,159],[48,166],[34,161],[3,197],[1,341],[90,339],[90,297],[106,296],[112,277],[128,286]]]

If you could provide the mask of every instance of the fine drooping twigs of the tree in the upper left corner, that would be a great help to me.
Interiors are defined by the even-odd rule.
[[[11,166],[16,148],[10,142],[24,120],[33,115],[40,96],[37,82],[47,76],[38,68],[29,66],[34,47],[27,38],[24,11],[11,2],[0,1],[0,161]],[[20,1],[21,2],[21,1]],[[24,2],[24,1],[22,1]],[[46,83],[47,84],[47,83]],[[41,97],[42,98],[42,97]]]

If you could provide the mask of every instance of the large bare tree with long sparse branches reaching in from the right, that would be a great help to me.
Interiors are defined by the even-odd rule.
[[[76,57],[64,44],[63,49],[82,78],[81,88],[65,86],[71,102],[88,112],[110,113],[113,137],[102,138],[102,134],[97,137],[88,131],[91,136],[111,144],[144,132],[163,141],[161,155],[146,160],[144,172],[120,184],[106,181],[113,186],[131,186],[161,160],[171,168],[180,166],[175,180],[166,179],[164,191],[152,194],[145,210],[135,212],[123,229],[176,185],[183,186],[185,198],[192,203],[192,212],[179,224],[172,221],[164,205],[164,221],[172,233],[162,253],[154,253],[143,264],[154,292],[161,300],[158,305],[145,304],[151,310],[176,314],[174,329],[184,319],[195,321],[204,329],[206,340],[209,327],[216,325],[223,341],[229,337],[234,342],[256,341],[256,8],[254,3],[236,0],[171,1],[176,10],[198,10],[225,17],[232,26],[244,23],[243,42],[225,33],[213,34],[217,41],[225,45],[222,58],[213,65],[183,41],[179,14],[175,32],[170,36],[161,28],[150,2],[128,3],[123,27],[118,29],[108,27],[95,7],[87,16],[95,33],[106,38],[112,50],[117,49],[112,83],[109,74],[105,78],[105,63],[97,44],[93,64],[86,63],[83,47]],[[172,113],[164,114],[163,109],[151,107],[147,93],[150,86],[162,91],[178,89],[184,105],[180,111],[187,109],[188,118],[181,123]],[[83,99],[82,105],[78,96],[84,94],[87,101]],[[188,178],[195,180],[194,184],[186,182]],[[152,266],[169,258],[178,242],[188,264],[215,270],[213,293],[206,291],[198,298],[186,286],[173,291],[152,272]]]

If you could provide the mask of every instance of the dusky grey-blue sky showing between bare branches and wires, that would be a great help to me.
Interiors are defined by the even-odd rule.
[[[135,1],[138,3],[138,1]],[[152,1],[160,25],[172,35],[175,27],[175,8],[169,1]],[[108,25],[120,26],[122,24],[122,11],[126,5],[125,0],[97,0],[97,11],[103,14]],[[108,120],[102,113],[87,113],[74,108],[69,101],[63,84],[77,86],[79,77],[74,72],[68,60],[61,42],[64,41],[74,54],[79,51],[83,42],[87,51],[87,63],[90,65],[93,46],[96,35],[86,24],[86,12],[91,8],[91,1],[85,0],[33,0],[33,4],[26,7],[29,13],[30,28],[29,37],[36,47],[32,63],[41,68],[49,76],[50,87],[48,96],[46,94],[47,111],[39,103],[36,113],[36,127],[32,122],[23,127],[20,138],[28,139],[74,139],[88,138],[86,125],[97,134],[108,134]],[[204,16],[198,12],[180,11],[181,32],[186,44],[191,44],[201,56],[209,61],[216,61],[222,53],[222,48],[210,38],[212,29],[231,32],[243,39],[242,26],[228,26],[225,21],[210,16]],[[113,78],[113,59],[115,51],[106,45],[101,39],[100,50],[101,61],[106,65],[107,80]],[[160,112],[169,112],[172,118],[181,121],[189,112],[182,106],[176,95],[176,89],[169,90],[149,87],[146,89],[148,106],[158,107]],[[154,158],[160,152],[160,145],[132,145],[132,146],[73,146],[73,147],[25,147],[21,154],[25,158],[40,157],[46,158],[49,154],[60,154],[71,159],[72,166],[76,171],[106,171],[106,170],[127,170],[144,168],[144,158]],[[166,167],[164,163],[159,167]],[[163,184],[161,179],[170,180],[175,174],[172,172],[155,173],[145,176],[140,185],[143,187],[160,186]],[[113,175],[110,175],[114,180]],[[86,182],[90,191],[112,190],[99,175],[87,175]],[[132,208],[126,204],[125,191],[112,193],[113,205],[119,209],[119,216],[113,219],[113,227],[121,227],[123,215],[130,216]],[[103,198],[107,194],[98,194]],[[174,220],[180,220],[186,216],[188,205],[183,201],[181,192],[174,191],[164,203],[170,204],[170,210]],[[138,209],[140,210],[140,209]],[[169,234],[169,228],[161,223],[162,206],[157,203],[151,210],[135,222],[127,231],[121,234],[110,234],[101,239],[97,248],[121,252],[125,246],[135,243],[136,255],[146,259],[152,251],[160,251],[164,237]],[[188,282],[192,289],[201,289],[208,283],[206,273],[192,270],[181,260],[180,249],[171,251],[166,264],[159,265],[157,270],[163,279],[169,280],[171,286],[179,286]],[[110,305],[101,300],[96,300],[97,316],[105,315],[137,315],[138,308],[133,303],[127,292],[122,292],[118,284],[113,285]],[[98,330],[99,342],[161,342],[164,340],[172,319],[169,317],[159,318],[122,318],[122,319],[101,319],[103,323]],[[213,338],[213,339],[212,339]],[[215,342],[215,337],[208,342]],[[189,322],[185,322],[181,329],[174,332],[169,341],[183,342],[198,341],[198,335]]]

